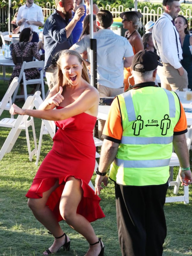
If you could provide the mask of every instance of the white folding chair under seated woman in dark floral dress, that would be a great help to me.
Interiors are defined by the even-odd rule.
[[[23,98],[23,96],[25,97],[25,101],[27,99],[27,96],[29,96],[29,94],[27,95],[27,85],[28,84],[38,84],[36,91],[39,90],[40,85],[41,85],[41,93],[42,93],[42,98],[45,99],[45,89],[44,89],[44,79],[43,79],[43,69],[44,69],[44,65],[45,65],[45,61],[30,61],[30,62],[23,62],[20,74],[19,74],[19,80],[18,82],[20,83],[21,79],[23,78],[23,88],[24,88],[24,95],[17,95],[18,89],[19,89],[19,85],[17,86],[14,94],[13,94],[13,99],[12,101],[15,102],[16,98]],[[26,80],[25,77],[25,69],[30,69],[30,68],[41,68],[40,70],[40,77],[38,79],[30,79],[30,80]],[[33,95],[33,94],[30,94]]]

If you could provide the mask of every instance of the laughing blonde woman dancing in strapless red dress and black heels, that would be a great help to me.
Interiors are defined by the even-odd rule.
[[[103,218],[99,201],[88,183],[95,166],[93,129],[97,119],[99,93],[89,84],[87,67],[72,50],[61,52],[57,61],[58,85],[50,90],[39,110],[20,109],[10,112],[54,120],[58,126],[52,150],[40,165],[27,192],[28,205],[34,216],[55,237],[43,254],[70,248],[70,239],[58,221],[70,227],[89,242],[86,256],[103,255],[104,245],[95,235],[90,222]],[[54,109],[56,107],[56,109]]]

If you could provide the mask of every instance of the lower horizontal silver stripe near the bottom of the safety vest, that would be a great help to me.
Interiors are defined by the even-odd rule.
[[[152,168],[152,167],[163,167],[168,166],[169,159],[158,159],[158,160],[122,160],[115,158],[114,163],[117,166],[123,168]]]

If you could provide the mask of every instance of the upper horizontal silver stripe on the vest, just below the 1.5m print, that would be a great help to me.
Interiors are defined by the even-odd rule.
[[[170,144],[173,141],[173,136],[170,137],[129,137],[122,136],[122,144],[136,144],[136,145],[147,145],[147,144]]]

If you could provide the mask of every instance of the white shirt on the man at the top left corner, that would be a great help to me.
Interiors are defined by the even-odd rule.
[[[28,8],[26,4],[19,7],[17,14],[17,22],[22,18],[26,19],[26,22],[22,23],[22,25],[20,26],[20,31],[22,31],[24,28],[31,27],[33,31],[35,31],[36,33],[39,32],[39,26],[27,24],[27,20],[39,21],[42,24],[44,24],[42,8],[34,3],[30,8]]]

